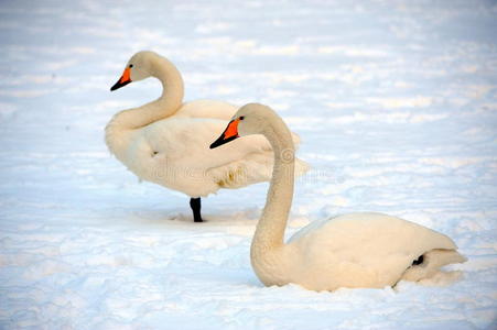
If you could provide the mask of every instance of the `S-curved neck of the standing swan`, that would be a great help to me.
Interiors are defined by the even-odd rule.
[[[183,78],[170,61],[159,55],[152,56],[150,72],[162,82],[161,97],[141,107],[118,112],[107,124],[107,145],[118,158],[121,158],[128,145],[128,133],[172,116],[183,103]]]

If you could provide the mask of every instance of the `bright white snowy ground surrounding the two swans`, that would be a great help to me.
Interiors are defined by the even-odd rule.
[[[497,6],[353,2],[2,1],[0,328],[496,329]],[[110,117],[160,94],[109,92],[144,48],[187,100],[264,102],[300,133],[314,169],[288,234],[383,211],[452,237],[464,278],[263,287],[248,252],[266,184],[205,199],[195,224],[106,150]]]

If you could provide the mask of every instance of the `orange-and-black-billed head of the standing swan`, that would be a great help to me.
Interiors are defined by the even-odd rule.
[[[128,61],[125,72],[117,82],[110,88],[110,90],[119,89],[131,81],[139,81],[152,76],[152,63],[159,55],[142,51],[138,52]]]

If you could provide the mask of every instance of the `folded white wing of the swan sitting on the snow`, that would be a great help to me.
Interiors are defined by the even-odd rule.
[[[317,221],[289,243],[301,245],[307,254],[304,260],[333,270],[328,274],[337,286],[348,287],[395,285],[419,256],[457,249],[442,233],[382,213],[350,213]]]

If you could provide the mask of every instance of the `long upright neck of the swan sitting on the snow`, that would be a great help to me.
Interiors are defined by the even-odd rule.
[[[252,240],[251,255],[256,260],[283,245],[294,182],[294,145],[289,129],[275,117],[263,134],[274,152],[274,167],[266,206]]]

